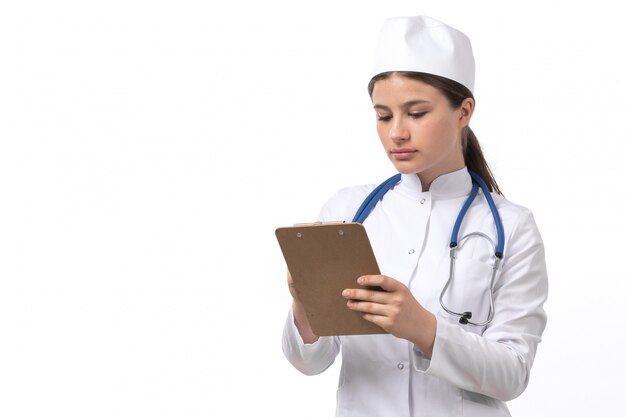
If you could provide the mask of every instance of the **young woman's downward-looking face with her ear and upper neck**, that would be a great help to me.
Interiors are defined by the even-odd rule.
[[[403,174],[417,174],[424,190],[440,175],[465,166],[461,132],[474,101],[453,109],[435,87],[397,74],[372,91],[376,127],[389,159]]]

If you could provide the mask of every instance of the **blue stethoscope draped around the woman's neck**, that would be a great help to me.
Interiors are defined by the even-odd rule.
[[[485,184],[485,181],[483,181],[482,178],[480,178],[480,176],[478,174],[476,174],[475,172],[471,171],[471,170],[467,170],[470,174],[470,176],[472,177],[472,191],[470,192],[469,196],[467,197],[467,200],[465,200],[465,203],[463,204],[463,207],[461,207],[461,211],[459,212],[459,215],[456,218],[456,221],[454,222],[454,227],[452,228],[452,236],[450,237],[450,274],[448,275],[448,281],[446,282],[446,285],[443,287],[443,289],[441,290],[441,294],[439,295],[439,304],[441,304],[441,307],[448,313],[451,314],[453,316],[459,317],[459,323],[461,324],[472,324],[474,326],[486,326],[487,324],[491,323],[491,321],[493,320],[493,314],[494,314],[494,310],[493,310],[493,284],[495,281],[495,277],[496,277],[496,273],[498,271],[498,269],[500,268],[500,264],[502,262],[502,257],[504,256],[504,228],[502,227],[502,220],[500,220],[500,214],[498,213],[498,209],[496,208],[496,204],[493,201],[493,198],[491,197],[491,192],[489,191],[489,188],[487,187],[487,184]],[[385,195],[385,193],[387,193],[387,191],[389,191],[391,188],[393,188],[396,184],[398,184],[400,182],[400,178],[401,178],[401,174],[396,174],[393,177],[387,179],[386,181],[384,181],[382,184],[380,184],[378,187],[376,187],[374,189],[374,191],[372,191],[370,193],[370,195],[368,195],[365,200],[363,201],[363,203],[361,204],[361,207],[359,207],[359,209],[357,210],[356,214],[354,215],[354,218],[352,219],[353,222],[356,223],[363,223],[363,221],[367,218],[367,216],[370,214],[370,212],[374,209],[374,207],[376,206],[376,204],[378,203],[378,201],[383,198],[383,196]],[[487,235],[485,235],[484,233],[480,233],[480,232],[473,232],[470,233],[466,236],[464,236],[463,238],[461,238],[461,240],[459,241],[459,229],[461,228],[461,223],[463,222],[463,218],[465,217],[465,214],[467,213],[467,210],[469,209],[469,207],[472,205],[472,202],[474,201],[474,199],[476,198],[476,195],[478,195],[478,188],[480,187],[480,189],[483,191],[483,195],[485,196],[485,199],[487,200],[487,203],[489,204],[489,208],[491,209],[491,215],[493,216],[493,221],[496,225],[496,232],[498,235],[498,243],[494,244],[493,241],[491,240],[491,238]],[[454,267],[455,267],[455,261],[456,261],[456,250],[460,247],[460,244],[467,238],[472,237],[472,236],[479,236],[482,238],[487,239],[489,242],[491,242],[492,246],[494,247],[494,263],[492,266],[492,272],[491,272],[491,280],[490,280],[490,285],[489,285],[489,314],[487,315],[487,320],[483,321],[483,322],[473,322],[470,319],[472,318],[472,312],[471,311],[465,311],[463,313],[459,313],[456,311],[451,310],[450,308],[448,308],[444,301],[444,294],[446,293],[446,291],[448,290],[448,287],[450,286],[451,282],[454,280]]]

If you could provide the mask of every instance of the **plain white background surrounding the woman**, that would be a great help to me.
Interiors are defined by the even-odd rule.
[[[626,344],[619,2],[19,1],[0,6],[0,415],[332,415],[283,358],[274,229],[382,181],[385,17],[467,33],[472,127],[547,247],[515,416],[615,415]],[[338,364],[335,364],[338,365]]]

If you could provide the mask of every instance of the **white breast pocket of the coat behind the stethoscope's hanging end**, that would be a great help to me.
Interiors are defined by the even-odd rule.
[[[487,321],[492,273],[493,264],[473,259],[456,259],[454,276],[442,296],[442,301],[448,310],[459,314],[471,312],[470,321],[474,323]],[[459,323],[459,316],[448,313],[443,307],[439,314],[447,320]],[[486,326],[466,324],[464,327],[473,333],[480,334]]]

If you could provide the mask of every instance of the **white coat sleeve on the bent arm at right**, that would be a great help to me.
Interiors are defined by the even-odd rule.
[[[494,285],[494,318],[482,335],[438,317],[431,359],[413,349],[416,370],[502,401],[528,385],[547,320],[544,247],[530,213],[511,232],[508,245]]]

